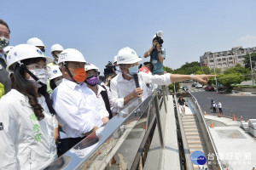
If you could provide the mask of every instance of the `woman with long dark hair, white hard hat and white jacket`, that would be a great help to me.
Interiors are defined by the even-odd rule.
[[[42,169],[57,157],[55,111],[46,92],[49,62],[52,59],[32,45],[9,51],[13,89],[0,99],[0,169]]]

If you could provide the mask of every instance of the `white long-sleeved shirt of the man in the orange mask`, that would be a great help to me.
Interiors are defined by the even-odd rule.
[[[57,120],[69,138],[83,137],[83,133],[101,127],[102,118],[108,116],[105,105],[84,82],[77,84],[63,78],[51,97]]]

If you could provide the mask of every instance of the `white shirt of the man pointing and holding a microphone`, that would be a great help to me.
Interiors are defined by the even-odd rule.
[[[151,75],[147,74],[145,72],[139,72],[138,74],[139,84],[140,87],[143,89],[143,98],[147,99],[148,95],[151,94],[152,91],[148,91],[149,88],[147,87],[147,83],[152,84],[158,84],[158,85],[169,85],[171,84],[170,73],[166,73],[164,75]],[[117,75],[116,77],[113,77],[113,79],[110,82],[110,89],[113,99],[113,107],[116,109],[121,109],[124,107],[124,98],[128,94],[131,94],[133,90],[136,88],[135,81],[133,78],[131,80],[124,79],[122,74]],[[151,89],[151,90],[154,90]],[[131,101],[128,102],[132,103],[136,99],[131,99]],[[127,105],[128,105],[127,104]]]

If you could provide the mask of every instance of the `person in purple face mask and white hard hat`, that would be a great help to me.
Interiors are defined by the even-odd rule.
[[[99,77],[97,74],[97,67],[96,65],[85,65],[86,71],[86,79],[85,82],[87,87],[90,88],[95,94],[97,99],[102,102],[102,105],[105,105],[106,110],[109,114],[109,119],[113,116],[113,100],[110,94],[109,88],[105,87],[104,85],[98,85]]]

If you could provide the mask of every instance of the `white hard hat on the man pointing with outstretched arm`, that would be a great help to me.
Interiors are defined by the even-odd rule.
[[[117,54],[117,64],[133,64],[137,63],[141,58],[137,56],[137,53],[131,48],[121,48]]]

